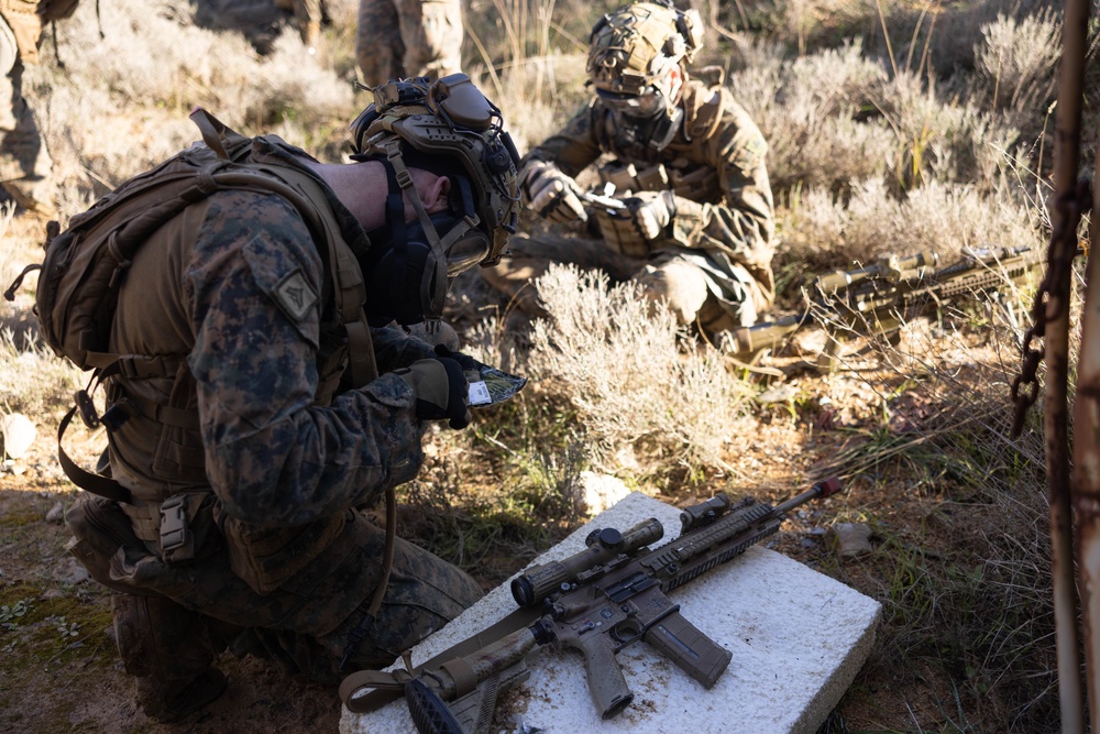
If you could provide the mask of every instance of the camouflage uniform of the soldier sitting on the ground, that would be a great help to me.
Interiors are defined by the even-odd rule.
[[[666,299],[681,322],[717,332],[756,321],[774,297],[771,259],[774,213],[768,182],[768,145],[759,128],[723,87],[689,80],[680,107],[683,122],[657,152],[648,141],[617,130],[615,116],[594,97],[563,130],[531,150],[524,164],[553,162],[578,176],[609,154],[606,171],[632,164],[641,178],[657,164],[667,184],[651,180],[634,190],[671,189],[676,213],[670,235],[653,242],[648,256],[616,251],[597,231],[580,237],[515,237],[512,254],[483,271],[496,288],[517,296],[525,310],[538,311],[530,285],[551,262],[605,270],[613,280],[634,278],[648,297]],[[606,172],[605,171],[605,172]],[[656,178],[656,177],[654,177]],[[622,195],[622,187],[616,196]],[[595,217],[590,217],[590,224]]]

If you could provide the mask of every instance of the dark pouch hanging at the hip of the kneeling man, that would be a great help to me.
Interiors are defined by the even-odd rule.
[[[270,594],[324,552],[348,522],[344,513],[292,527],[257,527],[217,507],[230,567],[257,594]]]

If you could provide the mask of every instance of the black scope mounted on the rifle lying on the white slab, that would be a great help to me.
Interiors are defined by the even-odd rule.
[[[606,527],[593,530],[585,538],[588,547],[560,561],[536,566],[512,581],[512,595],[520,606],[540,604],[550,594],[561,591],[563,585],[575,581],[585,571],[594,570],[630,555],[640,548],[657,543],[664,537],[664,527],[656,517],[642,521],[625,533]]]

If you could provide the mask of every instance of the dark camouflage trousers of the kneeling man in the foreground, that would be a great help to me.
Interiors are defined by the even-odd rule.
[[[66,519],[78,538],[73,554],[92,578],[122,592],[113,604],[119,653],[147,712],[199,679],[227,648],[324,683],[388,666],[482,595],[466,573],[398,538],[381,610],[366,624],[382,579],[385,532],[358,512],[349,513],[320,557],[267,594],[238,578],[223,552],[165,563],[102,497],[82,494]]]

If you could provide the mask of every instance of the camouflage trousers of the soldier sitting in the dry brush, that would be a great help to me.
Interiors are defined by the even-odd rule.
[[[707,336],[751,326],[769,304],[744,266],[702,250],[667,247],[648,258],[630,258],[603,240],[554,233],[513,237],[508,249],[509,256],[495,267],[482,269],[482,277],[529,316],[547,315],[531,282],[556,262],[601,270],[612,283],[637,283],[646,298],[663,302],[680,324],[695,325]]]

